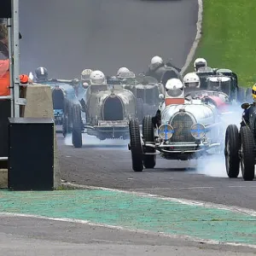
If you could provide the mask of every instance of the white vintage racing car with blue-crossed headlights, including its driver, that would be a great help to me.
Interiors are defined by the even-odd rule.
[[[142,172],[154,168],[156,151],[168,160],[189,160],[204,154],[219,154],[223,129],[219,114],[200,99],[184,98],[183,83],[170,79],[158,116],[143,119],[141,135],[137,119],[131,119],[130,143],[132,169]]]

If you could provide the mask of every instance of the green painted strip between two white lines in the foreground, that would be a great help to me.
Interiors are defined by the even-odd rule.
[[[256,244],[256,218],[247,214],[115,191],[2,191],[0,212],[78,218],[130,229]]]

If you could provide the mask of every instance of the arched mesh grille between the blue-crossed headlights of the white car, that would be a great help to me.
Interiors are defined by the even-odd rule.
[[[174,134],[171,139],[172,143],[192,143],[195,142],[195,138],[190,133],[191,125],[193,125],[193,119],[187,113],[177,113],[172,119],[172,127]]]

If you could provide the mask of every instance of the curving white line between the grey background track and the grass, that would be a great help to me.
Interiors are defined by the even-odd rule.
[[[203,1],[202,0],[198,0],[198,18],[197,18],[197,23],[196,23],[196,28],[197,28],[197,32],[195,35],[195,40],[194,43],[189,51],[189,55],[187,56],[187,59],[185,61],[185,64],[181,70],[181,74],[183,75],[183,73],[186,71],[186,69],[189,67],[191,61],[194,58],[195,55],[195,50],[197,49],[197,46],[200,42],[201,39],[201,23],[202,23],[202,14],[203,14]]]

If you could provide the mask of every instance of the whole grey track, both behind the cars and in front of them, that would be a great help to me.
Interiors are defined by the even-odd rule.
[[[20,24],[23,70],[44,65],[51,76],[62,78],[77,76],[84,67],[105,73],[115,73],[120,66],[143,71],[153,55],[172,57],[182,66],[195,38],[197,0],[77,0],[75,5],[67,0],[23,0],[20,9],[26,16]],[[219,163],[215,160],[206,168],[222,177],[177,172],[186,165],[168,160],[136,173],[126,147],[89,143],[94,146],[73,148],[58,137],[62,178],[69,182],[256,209],[256,184],[227,178],[223,160],[221,166],[212,167]]]

